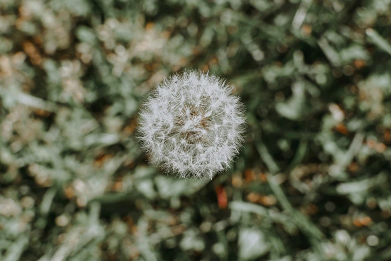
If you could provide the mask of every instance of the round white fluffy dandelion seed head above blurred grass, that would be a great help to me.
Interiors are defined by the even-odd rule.
[[[143,104],[138,133],[153,163],[181,177],[212,178],[239,152],[246,119],[225,80],[197,71],[166,78]]]

